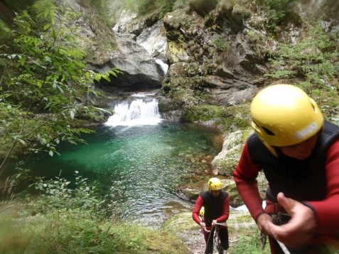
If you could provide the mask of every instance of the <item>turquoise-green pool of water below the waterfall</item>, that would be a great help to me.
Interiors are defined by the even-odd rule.
[[[215,130],[189,123],[163,121],[155,126],[101,126],[85,136],[87,145],[63,145],[60,156],[26,162],[35,175],[74,179],[75,171],[96,180],[102,193],[127,206],[124,216],[162,221],[168,213],[191,209],[176,188],[194,161],[220,152]],[[117,200],[116,200],[117,201]]]

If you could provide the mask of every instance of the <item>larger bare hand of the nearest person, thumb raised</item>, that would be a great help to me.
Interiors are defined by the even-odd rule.
[[[316,216],[313,211],[294,199],[286,198],[281,192],[277,199],[291,219],[284,225],[270,226],[274,238],[291,248],[309,243],[316,233]]]

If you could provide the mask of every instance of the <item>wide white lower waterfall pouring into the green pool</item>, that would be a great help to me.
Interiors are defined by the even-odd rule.
[[[134,94],[136,99],[122,101],[114,106],[114,115],[110,116],[105,126],[144,126],[156,125],[161,122],[158,111],[158,101],[146,96],[149,94]]]

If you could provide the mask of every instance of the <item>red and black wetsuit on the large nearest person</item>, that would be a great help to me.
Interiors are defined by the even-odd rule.
[[[318,135],[311,156],[297,160],[279,153],[279,149],[275,157],[254,133],[244,145],[233,175],[254,220],[265,212],[256,180],[263,170],[269,183],[267,198],[275,202],[276,194],[284,192],[313,209],[320,243],[325,243],[325,238],[336,238],[339,232],[339,127],[325,121]]]

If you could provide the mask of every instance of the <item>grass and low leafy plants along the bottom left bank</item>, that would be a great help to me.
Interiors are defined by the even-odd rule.
[[[55,177],[34,186],[41,195],[27,206],[1,204],[0,253],[188,253],[173,232],[111,220],[109,199],[77,172],[75,183]]]

